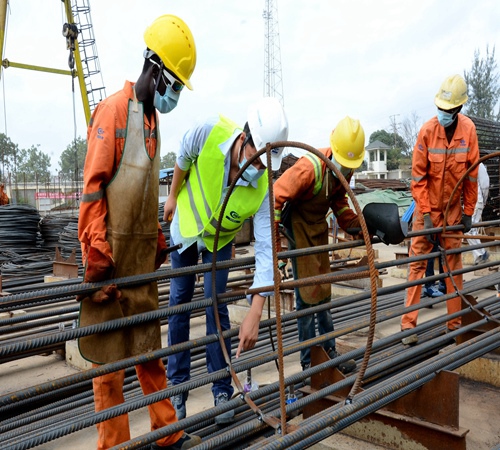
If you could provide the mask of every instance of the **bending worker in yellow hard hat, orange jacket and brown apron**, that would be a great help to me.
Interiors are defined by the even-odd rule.
[[[349,182],[354,169],[359,167],[365,156],[365,133],[358,120],[351,117],[342,119],[330,137],[330,147],[319,150],[340,170]],[[349,208],[346,190],[328,170],[326,163],[312,153],[302,156],[292,167],[274,183],[275,225],[282,220],[282,210],[286,206],[283,225],[288,235],[291,249],[308,248],[328,244],[328,223],[326,215],[329,208],[337,218],[339,226],[346,230],[360,226],[358,216]],[[277,230],[278,235],[278,230]],[[330,273],[330,259],[327,252],[301,256],[292,259],[292,270],[296,279]],[[301,311],[331,301],[331,284],[317,284],[295,289],[296,310]],[[333,331],[330,311],[318,312],[297,318],[299,341],[316,336],[315,317],[319,334]],[[339,356],[335,339],[323,344],[330,358]],[[302,369],[311,365],[311,350],[300,352]],[[356,368],[354,360],[343,363],[339,369],[344,373]]]

